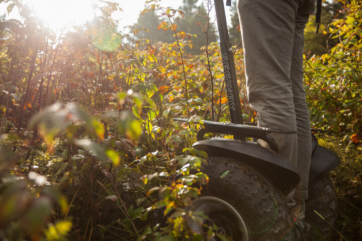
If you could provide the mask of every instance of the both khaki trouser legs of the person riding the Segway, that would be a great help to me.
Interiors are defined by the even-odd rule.
[[[303,31],[313,9],[313,0],[238,1],[249,103],[259,126],[280,131],[272,134],[280,154],[301,176],[296,194],[287,197],[290,205],[293,195],[308,197],[311,135],[303,88]]]

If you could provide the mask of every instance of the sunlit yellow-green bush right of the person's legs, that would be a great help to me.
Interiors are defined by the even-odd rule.
[[[361,7],[359,2],[346,5],[346,17],[335,20],[329,29],[339,43],[330,53],[305,61],[313,125],[356,145],[362,140]]]

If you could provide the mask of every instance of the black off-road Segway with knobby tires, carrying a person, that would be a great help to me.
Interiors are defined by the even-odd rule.
[[[201,233],[206,231],[204,224],[216,224],[215,240],[295,240],[285,195],[297,186],[300,177],[296,168],[278,154],[278,146],[269,135],[273,130],[243,123],[224,3],[214,2],[231,124],[203,121],[204,127],[197,134],[198,142],[193,147],[209,155],[208,164],[201,170],[208,175],[209,183],[190,207],[194,213],[202,212],[205,216],[189,220],[189,225],[194,232]],[[227,0],[228,6],[230,2]],[[204,140],[206,133],[233,135],[234,140]],[[250,138],[264,140],[270,149],[247,141]],[[337,215],[336,194],[327,173],[340,160],[317,145],[314,136],[311,138],[313,156],[305,220],[314,226],[314,237],[310,240],[323,240],[330,234],[330,224]]]

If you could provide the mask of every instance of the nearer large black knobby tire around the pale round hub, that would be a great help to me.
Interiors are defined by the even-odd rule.
[[[293,222],[284,196],[263,175],[240,161],[225,157],[210,157],[208,165],[204,165],[201,171],[209,177],[201,197],[222,199],[237,210],[250,241],[294,239]],[[227,175],[220,178],[227,171]],[[220,213],[208,216],[213,220],[218,215]],[[242,240],[238,231],[231,235],[234,240]]]

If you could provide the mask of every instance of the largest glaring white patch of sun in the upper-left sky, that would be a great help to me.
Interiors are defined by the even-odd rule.
[[[53,30],[83,24],[95,17],[89,0],[32,0],[34,13]]]

